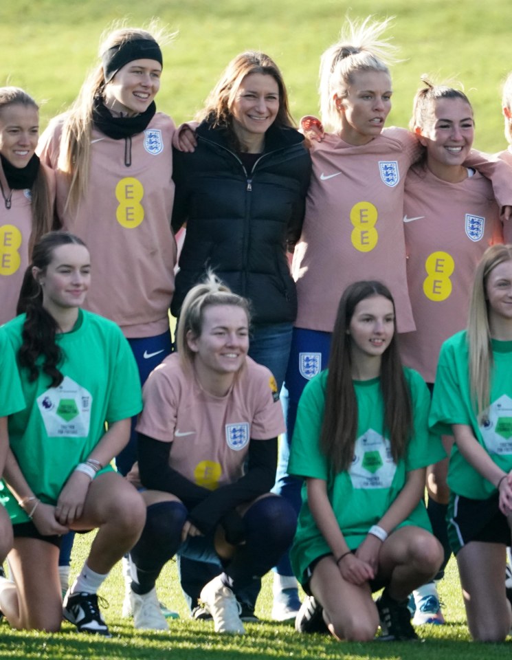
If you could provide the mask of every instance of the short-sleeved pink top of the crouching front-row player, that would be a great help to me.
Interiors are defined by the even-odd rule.
[[[172,442],[170,467],[214,490],[243,476],[250,439],[265,441],[285,431],[276,389],[271,372],[246,358],[229,393],[214,397],[173,353],[144,385],[137,431]]]

